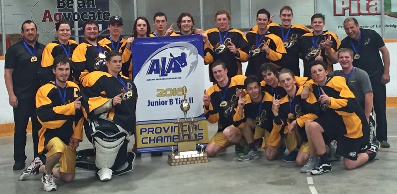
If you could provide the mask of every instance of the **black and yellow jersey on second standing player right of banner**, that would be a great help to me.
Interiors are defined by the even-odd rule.
[[[265,34],[258,34],[257,30],[252,30],[246,34],[249,46],[249,59],[248,66],[245,75],[256,75],[259,80],[262,80],[262,74],[260,67],[265,62],[273,63],[277,69],[284,67],[287,64],[286,53],[282,40],[275,34],[266,31]],[[258,45],[257,45],[258,44]],[[267,44],[270,48],[269,56],[261,49],[264,44]],[[257,48],[259,48],[259,53],[257,53]]]

